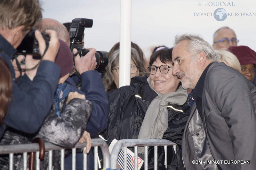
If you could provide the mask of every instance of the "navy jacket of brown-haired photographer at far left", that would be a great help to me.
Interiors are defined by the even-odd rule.
[[[15,72],[10,57],[16,52],[0,34],[0,57],[9,65],[13,80]],[[6,126],[25,133],[35,133],[49,112],[60,77],[60,67],[51,61],[42,61],[28,92],[20,90],[13,82],[12,101],[0,127],[0,138]]]

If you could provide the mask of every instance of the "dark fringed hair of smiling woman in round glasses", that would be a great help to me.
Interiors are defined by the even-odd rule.
[[[153,62],[155,62],[157,58],[159,58],[162,63],[172,63],[172,50],[173,47],[170,49],[162,49],[153,53],[149,60],[149,66],[152,66]]]

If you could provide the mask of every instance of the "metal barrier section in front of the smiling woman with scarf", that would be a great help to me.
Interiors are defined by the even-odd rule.
[[[118,154],[121,148],[124,149],[124,170],[127,170],[127,147],[134,146],[134,169],[138,170],[138,146],[144,146],[144,155],[148,155],[148,146],[154,147],[154,169],[157,170],[157,146],[164,146],[164,149],[167,149],[167,146],[176,144],[166,140],[166,139],[122,139],[118,140],[114,145],[112,152],[110,154],[110,168],[117,168],[117,159]],[[165,152],[165,162],[167,162],[167,153]],[[148,170],[148,157],[144,158],[144,167],[145,170]]]

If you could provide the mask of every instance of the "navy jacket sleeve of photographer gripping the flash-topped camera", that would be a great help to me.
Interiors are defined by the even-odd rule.
[[[77,91],[80,94],[84,94],[85,99],[92,102],[92,116],[88,121],[86,131],[89,132],[91,136],[94,136],[107,128],[108,97],[98,71],[86,71],[80,76],[82,93],[80,90],[80,92],[78,91],[73,81],[77,79],[77,76],[69,77],[66,82],[73,85],[73,92]]]

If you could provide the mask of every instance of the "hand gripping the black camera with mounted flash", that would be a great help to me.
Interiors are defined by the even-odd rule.
[[[73,49],[73,54],[77,53],[77,50]],[[75,57],[75,67],[79,74],[82,74],[89,70],[94,70],[97,62],[95,58],[96,49],[90,48],[89,52],[80,57],[79,54]]]

